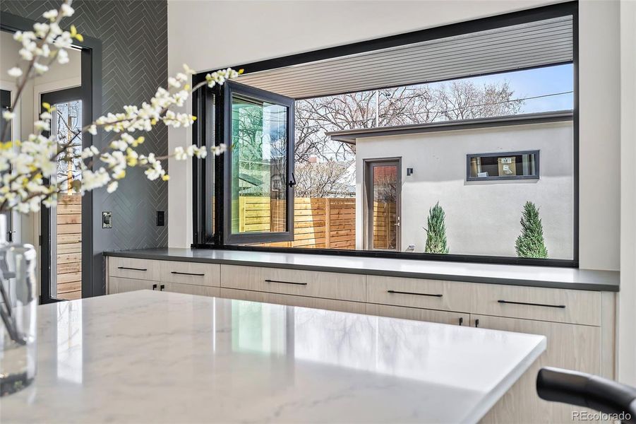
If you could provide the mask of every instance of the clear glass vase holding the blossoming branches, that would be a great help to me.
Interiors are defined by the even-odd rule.
[[[6,242],[6,234],[0,214],[0,396],[31,384],[36,363],[36,252]]]

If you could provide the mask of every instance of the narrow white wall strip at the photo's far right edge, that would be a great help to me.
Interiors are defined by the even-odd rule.
[[[636,1],[620,2],[618,380],[636,387]]]

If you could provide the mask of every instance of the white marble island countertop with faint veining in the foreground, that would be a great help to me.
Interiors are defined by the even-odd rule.
[[[474,423],[546,338],[143,290],[38,307],[8,423]]]

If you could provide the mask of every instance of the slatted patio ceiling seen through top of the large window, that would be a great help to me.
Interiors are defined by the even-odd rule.
[[[572,17],[248,73],[239,82],[292,98],[408,86],[572,61]]]

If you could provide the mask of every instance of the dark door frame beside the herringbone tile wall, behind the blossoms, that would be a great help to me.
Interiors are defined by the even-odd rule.
[[[35,20],[2,12],[0,15],[0,30],[8,33],[32,30]],[[83,90],[83,111],[85,122],[92,122],[102,114],[102,41],[83,36],[83,41],[73,42],[81,49],[81,88]],[[100,146],[101,140],[90,133],[83,134],[83,147]],[[40,230],[42,234],[42,230]],[[92,193],[84,194],[82,199],[82,297],[90,298],[102,294],[100,288],[104,285],[102,255],[93,255],[93,197]],[[44,269],[43,266],[40,269]],[[40,302],[47,302],[41,296]]]

